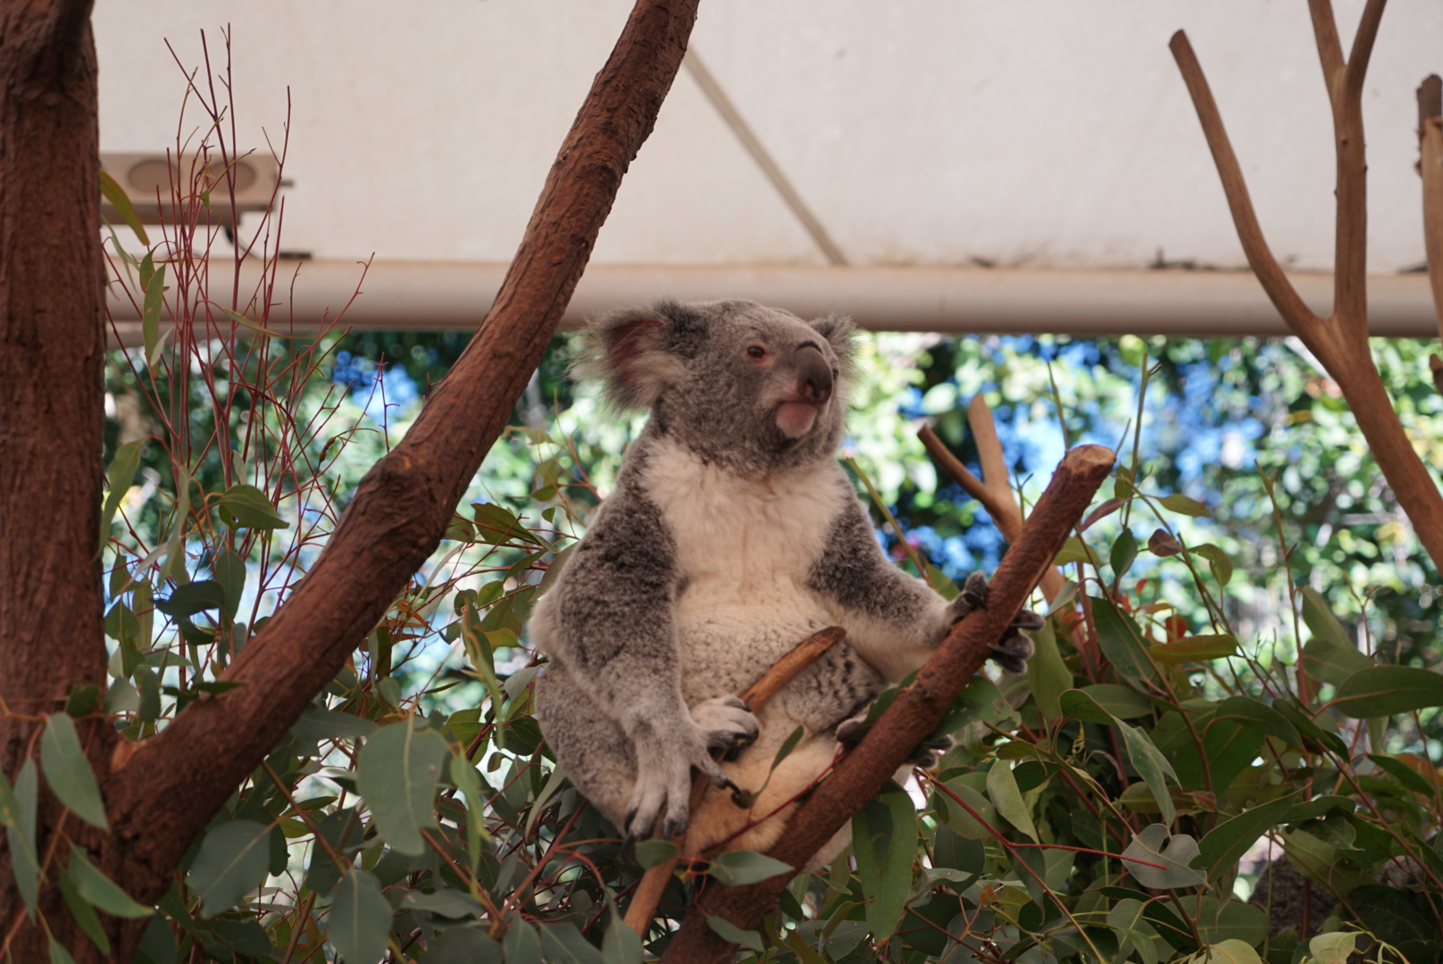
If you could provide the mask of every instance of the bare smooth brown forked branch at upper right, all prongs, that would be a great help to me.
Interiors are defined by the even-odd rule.
[[[1232,152],[1232,144],[1228,141],[1218,105],[1212,100],[1212,91],[1208,88],[1208,81],[1192,45],[1188,42],[1188,35],[1179,30],[1173,35],[1169,46],[1177,61],[1179,71],[1182,71],[1188,92],[1192,95],[1198,120],[1202,123],[1202,133],[1208,139],[1208,147],[1212,150],[1212,159],[1222,180],[1222,190],[1228,198],[1238,240],[1242,242],[1242,251],[1247,254],[1253,273],[1257,274],[1263,290],[1267,292],[1283,320],[1338,381],[1378,468],[1388,479],[1398,504],[1408,514],[1418,540],[1433,557],[1434,567],[1443,569],[1443,495],[1439,494],[1437,483],[1398,423],[1392,400],[1388,398],[1382,378],[1374,367],[1372,354],[1368,351],[1368,189],[1364,156],[1362,84],[1374,40],[1378,36],[1384,4],[1385,0],[1368,0],[1346,61],[1333,20],[1332,3],[1329,0],[1309,0],[1307,4],[1323,81],[1332,104],[1333,150],[1338,159],[1333,313],[1328,317],[1319,317],[1303,303],[1303,299],[1283,274],[1277,258],[1268,250],[1253,209],[1253,201],[1248,196],[1247,183],[1242,179],[1242,169]],[[1427,134],[1429,127],[1424,124],[1424,134]],[[1424,150],[1427,150],[1427,136],[1424,136]],[[1443,178],[1443,173],[1434,173],[1434,179],[1439,178]],[[1424,180],[1427,183],[1427,172],[1424,172]],[[1437,180],[1434,180],[1434,188],[1437,188]],[[1424,190],[1427,192],[1427,188]],[[1433,196],[1437,196],[1436,190]],[[1439,206],[1443,206],[1443,201],[1433,202],[1434,209]],[[1439,224],[1439,219],[1434,218],[1433,222]],[[1443,228],[1431,228],[1431,231],[1443,232]],[[1437,260],[1430,254],[1430,267]],[[1430,271],[1430,274],[1437,292],[1440,284],[1437,271]]]

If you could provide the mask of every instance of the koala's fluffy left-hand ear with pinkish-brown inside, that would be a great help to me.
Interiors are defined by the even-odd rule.
[[[600,378],[606,400],[622,410],[649,408],[685,369],[668,351],[671,322],[651,307],[606,315],[586,329],[586,356],[576,375]]]

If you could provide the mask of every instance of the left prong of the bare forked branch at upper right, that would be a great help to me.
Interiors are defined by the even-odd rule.
[[[1228,131],[1222,126],[1222,115],[1218,113],[1218,104],[1212,100],[1212,89],[1208,87],[1208,78],[1202,74],[1202,65],[1198,63],[1198,55],[1193,53],[1192,45],[1188,42],[1188,35],[1182,30],[1172,36],[1172,42],[1167,46],[1177,61],[1177,69],[1182,71],[1182,79],[1188,85],[1192,104],[1198,111],[1198,120],[1202,123],[1202,133],[1208,139],[1208,147],[1212,150],[1212,160],[1218,167],[1218,176],[1222,179],[1222,192],[1228,198],[1228,209],[1232,212],[1232,222],[1237,225],[1242,253],[1247,255],[1253,273],[1263,283],[1263,290],[1267,292],[1283,320],[1297,332],[1299,338],[1307,343],[1313,354],[1317,354],[1313,343],[1322,335],[1320,319],[1299,297],[1293,289],[1293,283],[1283,274],[1277,258],[1273,257],[1273,251],[1267,247],[1263,228],[1258,227],[1257,212],[1253,211],[1253,199],[1248,196],[1242,167],[1238,165],[1237,154],[1232,153]]]

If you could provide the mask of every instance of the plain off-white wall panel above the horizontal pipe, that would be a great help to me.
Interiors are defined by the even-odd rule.
[[[1345,46],[1361,1],[1339,7]],[[104,150],[173,146],[182,62],[231,25],[244,146],[291,98],[286,248],[506,260],[620,0],[102,0]],[[704,0],[693,48],[857,264],[1242,264],[1167,39],[1186,27],[1274,251],[1332,258],[1326,95],[1300,0]],[[1423,260],[1414,95],[1443,4],[1394,0],[1367,89],[1371,263]],[[199,123],[199,114],[192,118]],[[603,261],[821,263],[678,76]]]

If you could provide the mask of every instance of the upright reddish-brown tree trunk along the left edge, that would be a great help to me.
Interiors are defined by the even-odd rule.
[[[38,717],[78,684],[105,683],[100,533],[105,349],[100,250],[100,133],[89,0],[0,4],[0,766],[14,775]],[[89,732],[88,732],[89,730]],[[98,772],[114,739],[81,727]],[[39,847],[61,807],[40,797]],[[94,834],[66,833],[97,844]],[[0,906],[22,908],[9,851]],[[56,938],[88,941],[42,899]],[[94,950],[94,948],[89,948]],[[10,944],[46,960],[39,928]]]

